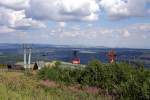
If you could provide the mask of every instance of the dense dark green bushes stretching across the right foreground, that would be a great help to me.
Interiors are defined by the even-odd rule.
[[[126,63],[102,64],[93,60],[82,69],[44,68],[39,72],[39,76],[67,84],[96,86],[107,94],[114,95],[116,99],[150,99],[150,70],[144,69],[143,66],[134,68]]]

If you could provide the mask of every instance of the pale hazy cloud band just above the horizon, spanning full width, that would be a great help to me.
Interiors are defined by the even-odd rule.
[[[144,26],[147,26],[147,29],[148,27],[150,28],[150,24],[143,23],[143,24],[133,24],[122,28],[94,27],[84,29],[70,28],[69,30],[65,28],[63,31],[59,31],[59,29],[56,27],[28,32],[24,30],[23,31],[15,30],[12,32],[14,33],[14,35],[10,35],[11,33],[1,34],[0,42],[1,41],[7,42],[9,37],[12,36],[11,41],[13,42],[19,41],[19,43],[20,42],[54,43],[54,44],[71,44],[71,45],[85,44],[85,45],[104,45],[108,47],[150,48],[148,44],[150,38],[149,32],[145,31],[145,28],[142,29],[139,28]],[[73,25],[71,27],[73,27]],[[12,30],[10,30],[10,32],[11,31]],[[7,32],[7,30],[5,30],[5,32]],[[26,34],[23,35],[24,32]],[[9,37],[7,38],[6,36],[8,35]],[[4,36],[5,39],[3,38]]]

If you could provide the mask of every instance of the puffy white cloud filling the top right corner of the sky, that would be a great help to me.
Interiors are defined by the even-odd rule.
[[[110,19],[149,16],[146,4],[149,0],[101,0],[100,6],[108,13]]]

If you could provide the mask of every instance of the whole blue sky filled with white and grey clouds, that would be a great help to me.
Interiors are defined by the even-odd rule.
[[[150,0],[0,0],[0,43],[150,48]]]

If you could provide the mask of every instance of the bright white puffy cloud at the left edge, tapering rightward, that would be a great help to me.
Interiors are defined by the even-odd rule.
[[[0,25],[16,29],[46,27],[40,21],[26,18],[24,10],[15,11],[3,7],[0,7]]]

